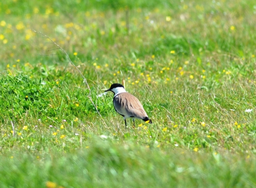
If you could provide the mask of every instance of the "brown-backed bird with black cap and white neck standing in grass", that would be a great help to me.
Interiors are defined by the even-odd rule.
[[[127,127],[126,119],[142,119],[145,122],[152,123],[147,113],[145,112],[141,102],[132,94],[125,91],[122,84],[112,84],[105,92],[111,91],[114,93],[113,104],[115,111],[124,117],[125,128]]]

